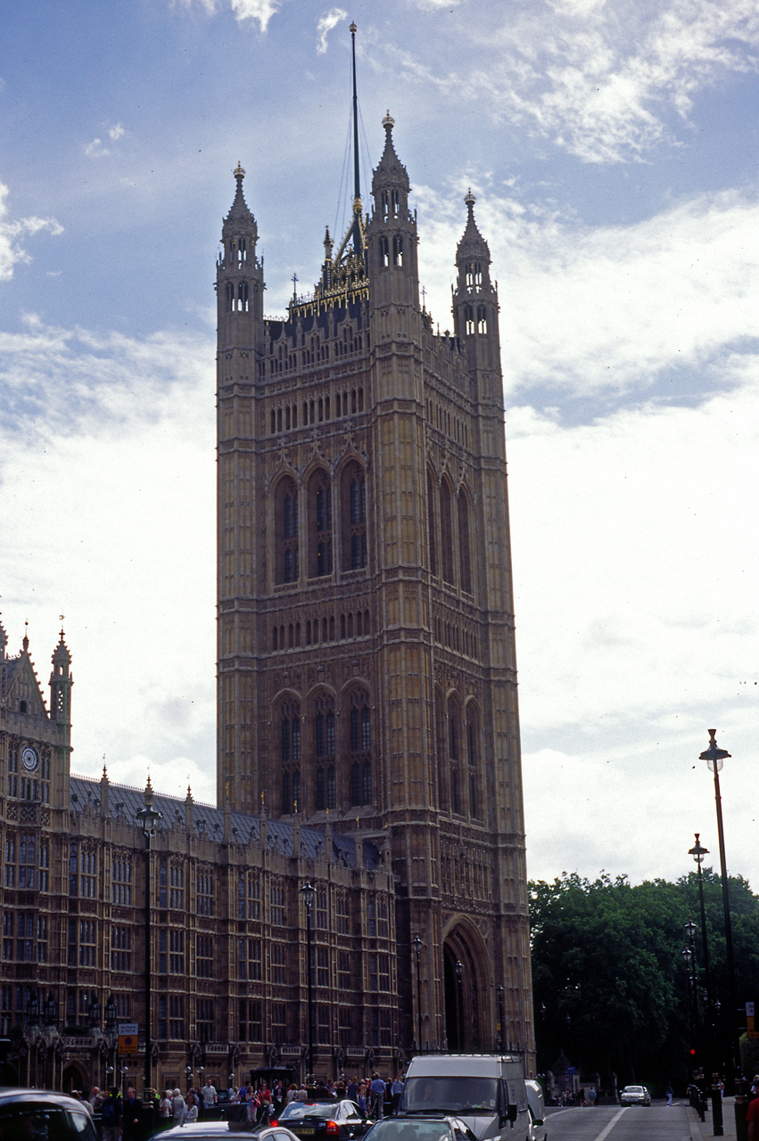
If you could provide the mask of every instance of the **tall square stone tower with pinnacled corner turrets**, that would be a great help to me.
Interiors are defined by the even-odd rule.
[[[244,171],[218,294],[218,798],[371,839],[404,1042],[534,1057],[498,297],[475,200],[453,335],[383,120],[312,294],[264,318]],[[421,945],[414,939],[421,939]]]

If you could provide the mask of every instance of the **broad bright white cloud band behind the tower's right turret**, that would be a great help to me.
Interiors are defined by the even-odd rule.
[[[468,181],[461,177],[461,191],[445,199],[417,192],[421,280],[441,327],[450,324]],[[701,387],[733,382],[716,362],[757,335],[756,197],[701,197],[632,226],[591,229],[488,188],[475,216],[499,282],[511,390],[540,385],[622,397],[685,369],[699,370]]]

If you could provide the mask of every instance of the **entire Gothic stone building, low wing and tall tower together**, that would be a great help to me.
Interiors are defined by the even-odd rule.
[[[2,1084],[142,1090],[146,957],[155,1087],[388,1075],[419,1049],[534,1073],[498,297],[468,194],[453,332],[434,330],[383,128],[371,211],[356,181],[278,319],[234,172],[218,807],[72,776],[64,633],[46,702],[0,626]]]

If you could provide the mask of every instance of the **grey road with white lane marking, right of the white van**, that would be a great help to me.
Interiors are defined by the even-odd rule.
[[[548,1141],[691,1141],[687,1102],[653,1106],[597,1106],[595,1109],[549,1109]]]

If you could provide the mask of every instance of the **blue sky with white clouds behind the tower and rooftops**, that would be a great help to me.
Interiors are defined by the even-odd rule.
[[[27,0],[0,43],[0,610],[72,770],[213,802],[215,262],[233,169],[269,315],[381,120],[451,325],[498,281],[527,873],[759,891],[756,0]],[[63,615],[63,620],[60,617]],[[29,623],[26,626],[25,623]]]

